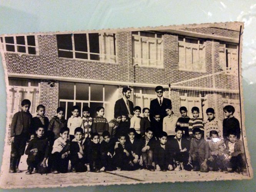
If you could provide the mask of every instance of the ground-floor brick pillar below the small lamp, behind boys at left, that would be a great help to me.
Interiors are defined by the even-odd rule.
[[[43,104],[46,108],[45,116],[52,119],[59,105],[59,82],[55,82],[55,86],[51,87],[47,80],[41,81],[40,104]]]

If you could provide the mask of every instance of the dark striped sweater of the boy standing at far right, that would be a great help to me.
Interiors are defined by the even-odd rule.
[[[230,131],[235,132],[236,138],[240,139],[240,124],[238,119],[236,119],[235,117],[226,118],[223,120],[223,138],[226,138]]]

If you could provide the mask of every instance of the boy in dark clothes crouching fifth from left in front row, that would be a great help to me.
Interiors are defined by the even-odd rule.
[[[108,131],[104,131],[102,133],[103,141],[100,144],[100,156],[102,162],[101,171],[112,171],[115,170],[115,166],[113,166],[113,155],[114,155],[114,145],[113,139],[110,139],[110,133]]]

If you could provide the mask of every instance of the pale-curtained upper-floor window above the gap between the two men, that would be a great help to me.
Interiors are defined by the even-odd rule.
[[[163,68],[163,35],[132,33],[133,65]]]

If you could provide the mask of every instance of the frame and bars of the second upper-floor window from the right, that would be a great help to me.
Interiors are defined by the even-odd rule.
[[[184,48],[185,48],[185,63],[181,63],[180,62],[180,40],[178,40],[178,70],[180,71],[194,71],[194,72],[199,72],[199,73],[206,73],[206,40],[204,39],[200,39],[200,38],[193,38],[193,37],[189,37],[189,36],[178,36],[178,38],[183,38],[183,43],[185,44],[184,45]],[[196,43],[188,43],[186,42],[186,39],[190,39],[190,40],[197,40],[197,44]],[[200,41],[203,41],[203,44],[200,43]],[[193,52],[192,52],[192,63],[186,63],[186,44],[196,44],[198,45],[198,62],[200,62],[200,45],[201,46],[205,46],[205,51],[204,51],[204,61],[203,61],[203,65],[204,65],[204,68],[203,70],[196,70],[196,69],[193,69],[193,66],[196,65],[196,63],[193,63]],[[193,50],[191,50],[193,51]],[[185,68],[181,68],[181,64],[185,65]],[[187,66],[188,65],[192,65],[192,69],[190,70]]]

